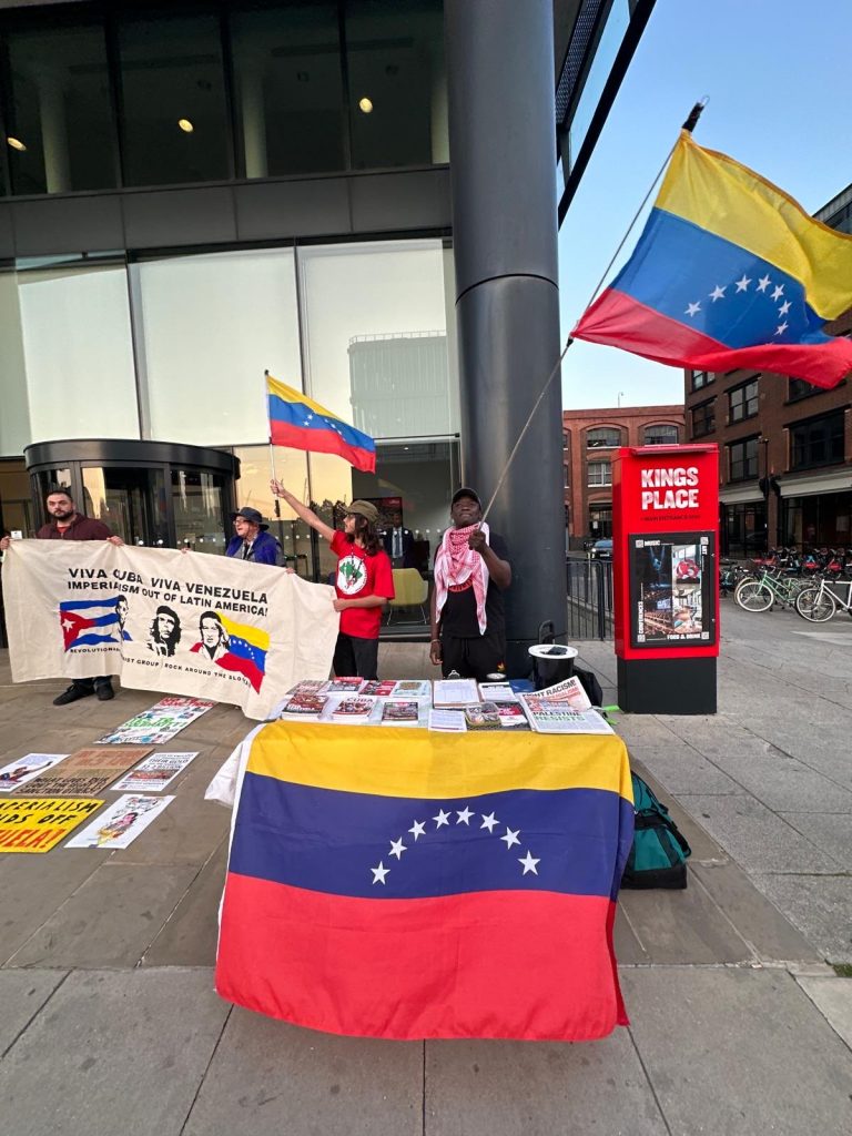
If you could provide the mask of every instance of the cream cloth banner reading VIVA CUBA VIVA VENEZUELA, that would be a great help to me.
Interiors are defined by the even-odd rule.
[[[3,563],[11,675],[118,675],[123,686],[266,718],[293,684],[327,678],[334,590],[281,568],[107,541],[15,541]]]

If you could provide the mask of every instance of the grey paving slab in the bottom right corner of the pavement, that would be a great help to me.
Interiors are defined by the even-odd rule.
[[[785,971],[660,967],[623,979],[671,1136],[852,1130],[852,1053]]]

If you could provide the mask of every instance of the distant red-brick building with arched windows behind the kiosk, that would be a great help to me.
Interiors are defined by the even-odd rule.
[[[619,445],[684,441],[684,408],[563,410],[565,521],[568,548],[612,535],[612,456]]]

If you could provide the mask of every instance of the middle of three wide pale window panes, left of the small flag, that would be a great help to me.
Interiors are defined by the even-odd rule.
[[[292,250],[143,261],[132,278],[145,435],[195,445],[266,442],[264,370],[301,387]]]

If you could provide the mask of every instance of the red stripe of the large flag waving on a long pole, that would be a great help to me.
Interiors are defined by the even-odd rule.
[[[815,386],[836,386],[852,370],[852,342],[761,343],[726,348],[653,308],[607,289],[588,308],[571,333],[574,339],[633,351],[655,362],[694,367],[698,370],[733,370],[754,367],[780,375],[795,375]]]

